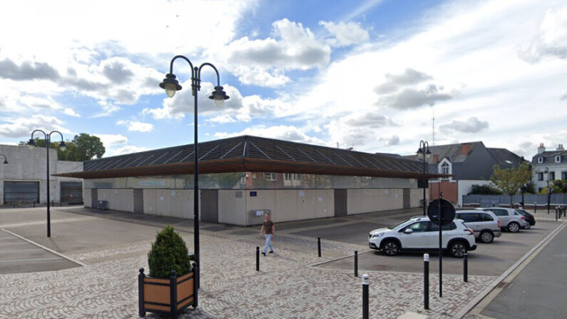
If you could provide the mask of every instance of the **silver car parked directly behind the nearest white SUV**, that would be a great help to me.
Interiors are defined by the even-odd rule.
[[[494,237],[502,236],[501,222],[491,211],[456,211],[455,218],[462,219],[474,231],[474,238],[482,243],[492,243]]]

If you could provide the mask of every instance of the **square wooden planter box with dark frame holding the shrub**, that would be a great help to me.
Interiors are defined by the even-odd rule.
[[[149,311],[177,318],[183,309],[197,306],[195,267],[180,277],[175,276],[175,270],[172,270],[170,278],[146,277],[143,272],[141,268],[138,275],[138,314],[141,317]]]

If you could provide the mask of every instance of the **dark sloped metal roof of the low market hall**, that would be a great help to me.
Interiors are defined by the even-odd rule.
[[[80,178],[192,174],[193,144],[101,158],[83,163]],[[199,143],[199,173],[261,171],[422,178],[423,164],[406,158],[362,153],[257,136]],[[427,174],[429,178],[439,174]]]

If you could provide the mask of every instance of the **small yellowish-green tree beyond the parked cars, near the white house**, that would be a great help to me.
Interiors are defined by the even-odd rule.
[[[502,169],[495,165],[493,170],[490,181],[502,193],[510,196],[510,206],[512,206],[512,196],[518,192],[521,186],[531,180],[531,169],[528,162],[523,161],[517,168]]]

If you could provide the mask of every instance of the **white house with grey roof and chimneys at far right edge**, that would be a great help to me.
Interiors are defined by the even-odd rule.
[[[567,180],[567,151],[559,144],[555,151],[546,151],[543,143],[539,144],[538,153],[531,158],[532,177],[538,192],[558,179]]]

